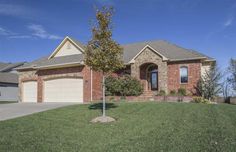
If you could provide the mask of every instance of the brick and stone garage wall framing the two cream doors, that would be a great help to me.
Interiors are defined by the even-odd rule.
[[[93,99],[99,100],[102,97],[101,80],[102,75],[98,72],[93,72]],[[22,83],[25,81],[37,81],[38,83],[38,102],[43,102],[44,81],[57,78],[83,78],[84,81],[84,102],[91,100],[91,70],[88,66],[76,66],[68,68],[48,69],[48,70],[33,70],[19,72],[19,94],[22,101]]]

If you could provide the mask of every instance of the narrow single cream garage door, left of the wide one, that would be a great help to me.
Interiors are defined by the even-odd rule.
[[[28,81],[22,85],[22,102],[37,102],[37,82]]]

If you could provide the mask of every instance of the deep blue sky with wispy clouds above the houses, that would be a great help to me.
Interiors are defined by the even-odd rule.
[[[65,36],[86,43],[94,6],[113,5],[121,44],[167,40],[217,59],[236,58],[235,0],[0,0],[0,61],[49,55]]]

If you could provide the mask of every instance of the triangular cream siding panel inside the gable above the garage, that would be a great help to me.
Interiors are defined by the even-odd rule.
[[[74,54],[81,54],[82,52],[75,47],[70,41],[66,41],[64,45],[58,50],[54,57],[67,56]]]

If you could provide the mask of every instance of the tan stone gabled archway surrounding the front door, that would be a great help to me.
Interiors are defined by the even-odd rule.
[[[131,76],[140,79],[140,67],[147,63],[153,63],[158,66],[158,90],[164,90],[167,92],[167,62],[163,61],[161,56],[148,47],[143,50],[143,52],[135,59],[135,62],[131,64]],[[142,80],[142,83],[147,82]]]

